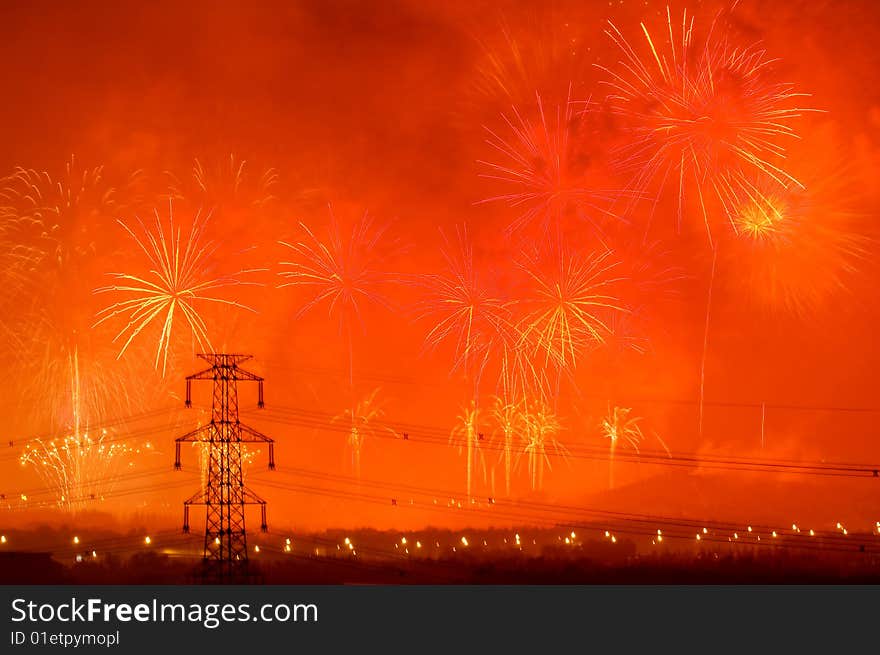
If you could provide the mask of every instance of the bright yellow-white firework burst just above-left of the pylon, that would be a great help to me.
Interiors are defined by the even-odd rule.
[[[113,339],[114,343],[122,341],[117,355],[117,358],[121,358],[141,332],[154,323],[160,323],[154,366],[158,369],[161,360],[164,376],[175,318],[182,320],[187,326],[195,346],[210,351],[212,347],[208,338],[208,326],[197,305],[213,303],[255,311],[238,301],[220,298],[211,292],[224,287],[255,285],[256,282],[242,281],[239,276],[255,273],[258,269],[211,277],[209,261],[217,246],[205,241],[205,229],[210,215],[204,219],[196,215],[186,236],[174,224],[170,201],[167,227],[157,210],[154,210],[154,215],[156,220],[152,232],[143,221],[137,219],[142,234],[138,234],[122,220],[118,221],[147,259],[149,271],[146,274],[109,273],[108,275],[118,281],[117,284],[100,287],[94,293],[122,293],[131,297],[100,310],[94,325],[111,321],[118,316],[126,318],[126,324]]]

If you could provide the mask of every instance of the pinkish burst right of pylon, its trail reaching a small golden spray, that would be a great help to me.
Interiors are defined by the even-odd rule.
[[[360,476],[361,445],[364,436],[379,418],[381,411],[371,407],[378,390],[360,402],[355,400],[354,389],[354,344],[352,322],[357,321],[365,329],[361,315],[361,304],[371,303],[390,308],[388,299],[380,293],[382,284],[393,277],[382,270],[384,256],[393,250],[396,242],[386,244],[385,228],[377,228],[366,212],[352,227],[349,235],[343,236],[341,226],[332,206],[329,207],[330,225],[326,241],[319,239],[304,223],[300,223],[303,239],[281,241],[289,248],[294,258],[280,262],[284,270],[279,275],[286,280],[280,287],[304,286],[313,292],[312,298],[299,310],[302,316],[317,305],[326,302],[328,317],[336,315],[340,335],[344,334],[348,353],[348,385],[350,407],[345,410],[351,424],[349,447],[352,449],[352,464]],[[376,413],[379,412],[379,413]]]

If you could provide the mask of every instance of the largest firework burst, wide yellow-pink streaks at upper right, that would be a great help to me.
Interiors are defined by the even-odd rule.
[[[730,221],[734,199],[751,176],[799,185],[781,168],[784,143],[798,136],[795,119],[815,110],[792,106],[806,94],[774,82],[775,60],[759,45],[735,46],[718,17],[702,41],[687,11],[679,35],[668,7],[666,23],[668,51],[641,24],[650,53],[642,56],[609,21],[606,34],[621,53],[620,70],[599,68],[607,75],[610,110],[632,138],[621,164],[635,169],[635,190],[641,195],[657,179],[662,190],[677,177],[679,228],[693,189],[712,243],[710,198]]]

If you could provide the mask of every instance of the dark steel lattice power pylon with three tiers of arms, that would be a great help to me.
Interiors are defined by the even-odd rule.
[[[205,488],[183,503],[183,530],[189,532],[190,505],[205,505],[205,573],[228,579],[246,570],[248,551],[245,505],[259,505],[265,532],[266,501],[244,485],[242,444],[268,444],[269,469],[275,469],[274,442],[238,420],[238,382],[256,382],[258,407],[263,407],[263,378],[239,368],[250,355],[200,354],[211,367],[186,378],[186,406],[192,406],[192,381],[214,383],[211,422],[176,440],[174,467],[180,469],[180,444],[198,442],[208,448]]]

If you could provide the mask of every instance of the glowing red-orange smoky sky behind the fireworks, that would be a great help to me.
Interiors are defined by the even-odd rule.
[[[673,6],[672,15],[683,8]],[[716,12],[730,7],[705,2],[687,9],[705,27]],[[165,211],[167,201],[161,198],[167,196],[170,171],[185,196],[175,205],[182,220],[203,200],[215,205],[208,229],[219,246],[211,268],[224,273],[266,269],[253,274],[263,286],[223,292],[256,313],[205,309],[215,346],[252,353],[251,370],[266,378],[266,415],[249,412],[246,420],[275,438],[279,466],[351,476],[344,433],[269,420],[273,406],[333,416],[350,403],[346,340],[326,306],[298,315],[308,289],[276,288],[283,281],[279,262],[289,256],[278,242],[294,238],[300,221],[324,234],[327,203],[346,226],[368,210],[387,227],[386,234],[401,245],[382,260],[395,274],[386,288],[393,306],[367,307],[363,325],[354,330],[355,388],[358,396],[381,389],[388,422],[445,434],[471,394],[461,371],[450,374],[452,344],[426,349],[432,324],[417,320],[413,308],[422,291],[407,282],[443,269],[441,232],[453,236],[462,225],[481,275],[499,287],[515,277],[513,262],[525,245],[506,236],[505,226],[517,209],[480,203],[504,192],[503,184],[480,175],[486,172],[480,160],[497,159],[486,142],[487,128],[504,133],[502,113],[509,116],[512,107],[534,112],[536,92],[547,106],[569,95],[600,101],[607,87],[600,84],[603,73],[595,64],[613,67],[620,59],[603,33],[606,20],[637,41],[640,21],[662,27],[665,16],[663,3],[628,1],[7,3],[0,9],[6,91],[6,102],[0,103],[0,175],[22,166],[57,177],[71,153],[83,169],[104,166],[105,179],[119,188],[134,171],[142,173],[126,187],[125,207],[86,216],[64,234],[66,244],[76,244],[73,250],[87,253],[82,263],[65,269],[52,288],[28,291],[26,303],[12,301],[3,311],[14,318],[41,307],[52,316],[52,330],[65,333],[66,343],[72,334],[88,340],[84,375],[113,385],[102,392],[109,397],[92,421],[180,407],[184,375],[200,368],[185,332],[173,343],[163,378],[152,365],[155,330],[117,362],[113,331],[91,327],[107,304],[93,289],[107,283],[106,272],[134,266],[138,256],[114,219],[131,222],[135,214],[149,216],[153,206]],[[563,425],[558,438],[573,447],[597,443],[611,403],[633,407],[646,432],[656,432],[673,452],[880,462],[878,412],[866,411],[880,408],[874,384],[880,308],[872,240],[880,155],[880,11],[871,2],[751,0],[737,3],[728,27],[737,43],[761,42],[769,58],[778,58],[773,75],[809,93],[804,106],[822,110],[795,123],[800,139],[786,143],[787,165],[822,190],[820,210],[842,215],[834,227],[857,237],[861,256],[848,260],[841,272],[839,262],[823,259],[831,251],[823,242],[815,266],[810,259],[788,269],[798,288],[815,298],[798,312],[762,295],[767,287],[760,276],[768,269],[750,268],[754,263],[737,251],[721,256],[700,436],[697,403],[711,251],[697,229],[702,219],[695,218],[693,206],[687,209],[690,227],[675,233],[670,226],[676,204],[663,197],[654,220],[665,227],[652,232],[662,244],[646,258],[655,269],[676,273],[668,297],[652,290],[643,299],[648,309],[640,330],[650,347],[640,354],[611,344],[586,355],[554,401]],[[618,137],[599,119],[589,124],[578,133],[584,140],[578,165],[601,171]],[[230,153],[247,162],[244,187],[233,197],[221,176],[218,190],[206,200],[192,180],[194,159],[213,171],[228,165]],[[260,176],[269,169],[277,171],[277,182],[261,187]],[[611,173],[598,175],[603,183],[617,181]],[[260,198],[265,202],[254,205]],[[634,219],[641,220],[642,215]],[[588,223],[566,229],[590,249],[599,242]],[[625,252],[633,234],[642,233],[620,228],[612,247]],[[18,444],[31,435],[63,432],[64,419],[52,415],[59,401],[47,398],[52,383],[46,380],[52,378],[45,362],[22,356],[37,337],[21,323],[10,323],[15,325],[4,337],[8,382],[0,406],[16,445],[0,459],[0,492],[13,498],[19,490],[43,485],[19,464]],[[486,389],[482,393],[491,395]],[[202,404],[209,401],[207,389],[198,394]],[[123,402],[124,396],[129,400]],[[762,403],[767,408],[763,447]],[[243,390],[242,405],[254,404],[255,396]],[[162,415],[167,432],[149,437],[159,454],[132,458],[144,471],[167,465],[167,477],[151,479],[155,488],[88,509],[106,511],[123,524],[178,521],[180,503],[194,489],[162,485],[175,480],[173,438],[190,429],[197,416],[196,410]],[[142,446],[144,440],[132,443]],[[491,474],[485,483],[480,480],[481,497],[499,495],[503,487],[497,453],[487,457],[494,486]],[[197,467],[195,453],[185,452],[187,460],[190,468]],[[880,518],[876,482],[865,486],[870,480],[644,463],[617,467],[615,489],[609,490],[607,462],[554,459],[538,492],[529,489],[523,460],[514,496],[710,519]],[[362,475],[392,486],[465,492],[464,460],[441,444],[368,438]],[[258,491],[260,479],[270,477],[255,477]],[[125,488],[122,480],[115,492]],[[300,527],[494,522],[485,514],[391,507],[390,492],[388,506],[277,486],[262,495],[270,502],[270,521]],[[25,523],[62,520],[45,507],[10,510],[8,517]]]

